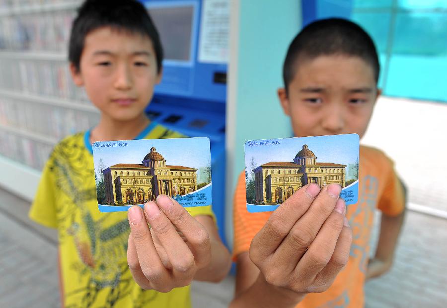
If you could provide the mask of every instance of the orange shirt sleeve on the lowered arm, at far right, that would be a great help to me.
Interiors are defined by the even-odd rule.
[[[388,216],[397,216],[405,209],[405,189],[394,171],[393,162],[385,156],[388,166],[384,173],[384,187],[377,208]]]

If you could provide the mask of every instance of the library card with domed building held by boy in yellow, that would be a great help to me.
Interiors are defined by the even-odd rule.
[[[184,207],[211,205],[208,138],[99,141],[93,162],[101,212],[143,207],[160,194]]]

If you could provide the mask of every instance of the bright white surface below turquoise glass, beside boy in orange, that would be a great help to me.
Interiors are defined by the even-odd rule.
[[[447,104],[381,97],[362,143],[395,162],[409,202],[447,212]]]

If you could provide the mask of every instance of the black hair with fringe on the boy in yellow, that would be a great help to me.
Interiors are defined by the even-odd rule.
[[[73,21],[69,43],[69,61],[77,71],[80,70],[85,37],[101,27],[112,27],[149,37],[155,51],[157,72],[160,72],[163,49],[158,31],[145,6],[137,0],[86,0],[82,3]]]

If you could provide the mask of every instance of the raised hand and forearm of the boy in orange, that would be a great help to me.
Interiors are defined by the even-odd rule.
[[[310,188],[310,189],[309,189]],[[352,233],[340,185],[298,189],[237,256],[230,307],[295,307],[323,292],[347,263]]]

